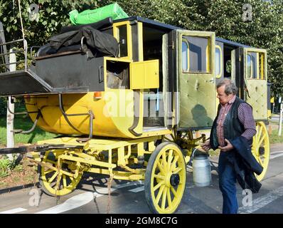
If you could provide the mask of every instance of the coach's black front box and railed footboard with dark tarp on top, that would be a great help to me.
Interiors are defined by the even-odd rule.
[[[104,56],[117,56],[119,44],[112,35],[96,28],[109,28],[111,25],[112,19],[108,18],[94,24],[62,28],[61,31],[67,33],[51,37],[49,46],[31,47],[31,66],[27,61],[27,41],[22,38],[5,42],[2,26],[0,60],[2,56],[4,63],[0,64],[0,70],[4,71],[0,71],[0,95],[103,91]],[[10,50],[7,46],[23,48],[7,51]],[[39,50],[33,56],[35,48]],[[9,63],[11,53],[23,53],[24,60]],[[18,63],[23,63],[23,66],[19,67]],[[12,64],[16,64],[16,71],[9,70]]]

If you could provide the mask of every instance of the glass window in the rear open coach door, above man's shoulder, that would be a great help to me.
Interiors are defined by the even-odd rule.
[[[257,52],[247,53],[247,78],[265,79],[265,54]]]

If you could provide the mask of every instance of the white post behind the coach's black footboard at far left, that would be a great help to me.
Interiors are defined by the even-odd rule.
[[[9,63],[16,63],[16,54],[12,53],[13,48],[9,50]],[[9,65],[10,71],[16,71],[16,64],[11,64]],[[11,102],[11,96],[9,96],[9,100],[7,102],[7,147],[14,147],[15,141],[14,141],[14,110],[15,106],[14,103]],[[8,110],[11,110],[10,111]],[[13,160],[13,155],[9,154],[8,155],[9,160]]]

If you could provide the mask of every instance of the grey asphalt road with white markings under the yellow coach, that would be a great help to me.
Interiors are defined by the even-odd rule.
[[[239,212],[250,213],[283,213],[283,145],[271,146],[271,157],[267,175],[262,180],[259,193],[252,195],[252,205],[242,195],[237,185]],[[218,214],[222,209],[222,196],[218,189],[218,157],[211,159],[212,184],[209,187],[193,185],[193,175],[188,169],[187,185],[180,207],[176,213],[181,214]],[[111,195],[108,195],[107,178],[95,175],[82,179],[78,189],[70,195],[60,198],[41,195],[36,187],[17,190],[0,195],[1,213],[151,213],[144,197],[142,182],[124,182],[114,180]],[[40,199],[38,201],[38,199]],[[39,204],[39,205],[37,205]]]

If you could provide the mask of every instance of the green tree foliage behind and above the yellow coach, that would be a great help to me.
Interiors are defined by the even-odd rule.
[[[117,2],[129,16],[148,19],[189,30],[215,31],[216,36],[267,48],[268,77],[275,94],[283,94],[282,48],[283,0],[38,0],[39,21],[29,21],[28,6],[33,0],[21,0],[23,26],[29,46],[43,45],[49,36],[70,25],[68,12],[96,9]],[[242,21],[242,6],[252,5],[252,21]],[[6,28],[6,40],[21,38],[18,4],[0,0],[0,21]]]

